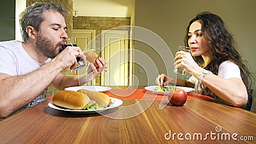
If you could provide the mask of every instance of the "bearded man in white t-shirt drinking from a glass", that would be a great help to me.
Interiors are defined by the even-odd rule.
[[[49,84],[58,90],[79,86],[104,70],[106,60],[99,58],[99,67],[90,63],[79,77],[61,74],[76,67],[77,57],[85,60],[80,47],[62,47],[68,38],[66,15],[58,4],[32,4],[20,14],[23,42],[0,42],[0,118],[45,100]]]

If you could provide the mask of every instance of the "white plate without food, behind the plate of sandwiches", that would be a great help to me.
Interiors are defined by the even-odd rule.
[[[73,87],[65,88],[65,90],[72,90],[72,91],[77,91],[81,89],[90,90],[93,92],[105,92],[105,91],[111,90],[111,88],[107,86],[73,86]]]

